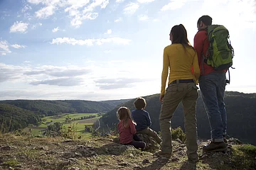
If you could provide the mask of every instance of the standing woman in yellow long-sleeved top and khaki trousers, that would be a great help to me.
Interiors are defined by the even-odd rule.
[[[196,50],[188,42],[186,28],[182,24],[171,28],[170,40],[171,45],[164,48],[164,66],[161,75],[159,100],[162,106],[159,123],[163,142],[158,154],[171,156],[171,118],[182,101],[188,160],[197,162],[196,100],[198,87],[196,82],[200,76],[198,57]],[[168,87],[165,90],[168,75]]]

